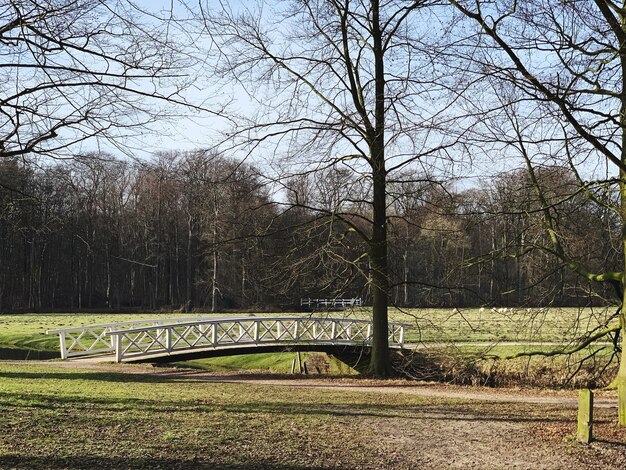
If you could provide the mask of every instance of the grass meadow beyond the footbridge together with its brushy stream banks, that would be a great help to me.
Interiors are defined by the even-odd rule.
[[[367,318],[368,314],[367,309],[358,309],[316,313],[315,315],[348,315]],[[497,377],[498,383],[509,385],[515,381],[521,381],[539,386],[563,384],[578,386],[606,383],[611,374],[610,367],[605,371],[604,378],[598,378],[595,373],[602,370],[604,363],[611,357],[612,345],[604,344],[594,347],[595,349],[586,348],[571,357],[522,357],[506,363],[494,362],[485,357],[506,357],[523,352],[562,347],[541,343],[568,343],[606,321],[610,314],[611,310],[607,309],[579,311],[571,308],[516,311],[510,309],[413,309],[392,310],[390,316],[392,321],[401,321],[407,325],[407,342],[422,342],[430,345],[428,349],[434,350],[433,355],[438,362],[437,367],[444,369],[440,375],[446,380],[453,374],[457,374],[458,378],[455,380],[462,383],[492,383]],[[0,348],[58,351],[57,337],[46,335],[46,330],[86,324],[184,316],[188,315],[171,313],[160,315],[149,313],[0,315]],[[591,354],[598,348],[601,348],[600,352],[592,357]],[[587,356],[590,358],[586,360],[576,380],[572,382],[571,375],[578,370],[579,361]],[[261,354],[205,359],[185,365],[209,370],[254,369],[289,372],[293,358],[293,353]],[[432,372],[432,368],[429,370]],[[346,369],[334,367],[331,373],[333,372],[345,373]],[[435,375],[439,372],[435,370]],[[432,378],[432,374],[426,376],[420,374],[422,372],[416,373],[416,377]]]

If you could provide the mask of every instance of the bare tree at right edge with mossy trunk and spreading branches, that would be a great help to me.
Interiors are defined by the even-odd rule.
[[[523,154],[541,202],[551,254],[585,279],[608,283],[617,292],[620,309],[616,322],[591,339],[621,333],[621,362],[615,382],[624,385],[626,4],[613,0],[450,3],[475,26],[475,34],[464,38],[465,48],[459,49],[466,58],[471,55],[465,62],[468,69],[495,80],[498,89],[515,90],[495,93],[498,99],[493,109],[508,113],[510,122],[518,124],[503,137],[512,139],[508,143]],[[542,116],[538,118],[538,114]],[[533,124],[515,117],[520,115],[533,117]],[[530,142],[540,142],[541,150],[527,153]],[[553,205],[537,179],[536,166],[550,159],[567,164],[579,190],[600,206],[615,200],[612,192],[618,195],[614,210],[621,226],[621,268],[590,270],[568,246],[558,230]],[[620,416],[624,417],[626,386],[622,390]]]

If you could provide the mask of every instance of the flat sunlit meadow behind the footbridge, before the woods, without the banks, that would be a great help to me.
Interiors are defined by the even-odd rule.
[[[314,315],[368,318],[367,309]],[[407,325],[407,342],[567,342],[602,324],[610,309],[409,309],[390,311],[391,321]],[[233,314],[240,315],[240,314]],[[265,315],[265,314],[263,314]],[[268,314],[274,315],[274,314]],[[280,315],[280,314],[277,314]],[[311,315],[305,314],[302,315]],[[55,350],[48,329],[185,314],[20,314],[0,315],[0,347]],[[223,314],[219,314],[223,316]]]

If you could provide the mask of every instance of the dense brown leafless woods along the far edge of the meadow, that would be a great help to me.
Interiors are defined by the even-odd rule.
[[[2,159],[0,311],[367,302],[368,207],[339,194],[351,176],[335,172],[270,192],[258,168],[207,152],[140,164],[86,155],[45,168]],[[471,189],[395,186],[391,301],[538,306],[610,297],[553,256],[549,237],[589,271],[618,270],[614,201],[592,204],[562,167],[537,178],[539,192],[522,170]]]

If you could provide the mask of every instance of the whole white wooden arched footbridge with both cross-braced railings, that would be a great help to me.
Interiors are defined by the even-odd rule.
[[[116,362],[146,362],[264,349],[369,347],[372,322],[310,316],[193,317],[87,325],[47,333],[59,335],[62,359],[114,354]],[[403,347],[403,324],[389,324],[389,344]]]

